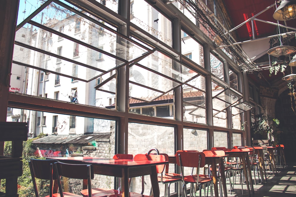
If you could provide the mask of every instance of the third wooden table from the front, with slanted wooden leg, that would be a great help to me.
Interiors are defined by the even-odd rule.
[[[242,167],[244,170],[244,176],[246,178],[247,189],[249,191],[249,196],[251,196],[251,191],[253,191],[253,193],[254,193],[254,187],[253,187],[249,153],[250,153],[250,150],[249,151],[242,151],[241,150],[238,152],[233,152],[230,150],[225,151],[225,154],[228,154],[229,157],[239,157],[241,159]],[[251,186],[251,190],[250,190],[250,186]]]

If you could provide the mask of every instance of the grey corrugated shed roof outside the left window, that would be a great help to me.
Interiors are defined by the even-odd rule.
[[[48,135],[33,140],[34,144],[89,144],[95,139],[110,139],[110,133],[85,135]]]

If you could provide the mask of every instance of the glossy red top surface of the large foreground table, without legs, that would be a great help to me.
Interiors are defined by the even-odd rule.
[[[113,165],[118,167],[151,166],[168,164],[167,161],[142,161],[133,159],[107,159],[99,157],[46,157],[46,159],[57,159],[59,161],[76,161],[92,165]]]

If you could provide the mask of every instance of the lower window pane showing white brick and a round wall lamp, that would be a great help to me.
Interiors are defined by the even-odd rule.
[[[202,152],[208,149],[207,131],[199,129],[183,129],[184,150],[198,150]]]

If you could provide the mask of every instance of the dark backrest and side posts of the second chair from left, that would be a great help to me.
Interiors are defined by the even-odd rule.
[[[66,164],[62,162],[54,163],[56,170],[59,190],[62,191],[62,183],[60,176],[75,179],[87,179],[89,197],[91,194],[91,179],[94,178],[94,168],[89,164]],[[63,193],[60,192],[60,196],[64,197]]]

